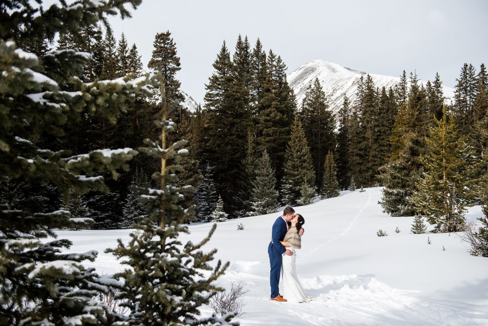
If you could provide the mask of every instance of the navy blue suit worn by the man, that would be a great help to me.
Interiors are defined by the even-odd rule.
[[[280,243],[285,238],[287,231],[286,222],[283,217],[276,219],[273,224],[271,238],[273,239],[268,245],[269,265],[271,270],[269,272],[269,284],[271,285],[271,298],[276,298],[279,294],[281,265],[283,263],[283,253],[286,251],[285,247]]]

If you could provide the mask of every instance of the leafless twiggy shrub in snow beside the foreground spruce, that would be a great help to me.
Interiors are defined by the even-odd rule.
[[[244,315],[242,309],[245,306],[243,296],[247,292],[248,290],[245,288],[244,282],[232,282],[230,289],[218,292],[210,299],[208,305],[217,314],[223,315],[228,311],[235,313],[236,317],[241,317]]]

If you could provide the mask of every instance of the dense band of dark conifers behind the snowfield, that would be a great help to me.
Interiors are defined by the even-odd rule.
[[[84,43],[73,43],[69,35],[63,35],[58,49],[74,46],[91,53],[92,61],[82,74],[85,81],[114,79],[141,71],[137,48],[133,45],[129,49],[123,34],[117,41],[110,33],[103,37],[101,28],[80,33]],[[35,45],[29,45],[32,52],[46,51],[45,43]],[[169,31],[155,37],[148,68],[157,72],[158,67],[164,76],[168,101],[182,101],[181,83],[176,79],[181,69],[180,58]],[[450,219],[442,218],[440,211],[435,213],[437,218],[432,217],[433,213],[425,207],[433,203],[426,204],[427,199],[420,199],[419,195],[433,189],[423,182],[430,164],[427,157],[436,150],[432,142],[436,133],[441,132],[440,122],[444,126],[454,123],[450,126],[455,130],[451,141],[462,138],[466,144],[464,152],[452,154],[464,155],[462,162],[466,164],[453,178],[460,178],[469,170],[466,178],[472,186],[468,183],[461,186],[458,179],[448,181],[444,171],[444,190],[436,189],[436,194],[448,202],[447,193],[460,200],[462,190],[470,189],[468,193],[472,196],[466,204],[480,201],[477,192],[482,189],[486,171],[482,159],[488,139],[487,72],[483,64],[479,72],[470,64],[463,66],[454,102],[446,109],[439,74],[424,86],[415,73],[408,78],[404,71],[400,82],[389,89],[378,88],[371,76],[365,75],[359,80],[356,100],[351,103],[344,97],[337,124],[318,80],[309,85],[298,107],[286,81],[285,63],[272,50],[264,50],[259,39],[251,48],[247,37],[239,36],[232,55],[224,42],[213,67],[205,85],[203,108],[187,112],[177,106],[170,114],[180,125],[171,141],[183,138],[189,141],[190,155],[182,160],[180,185],[197,187],[196,193],[187,195],[187,199],[195,204],[199,221],[214,220],[212,212],[219,197],[223,211],[229,218],[235,218],[274,212],[280,205],[309,204],[317,195],[329,198],[337,196],[339,190],[378,185],[385,186],[380,204],[392,216],[419,215],[430,223]],[[157,99],[159,89],[152,91]],[[160,106],[151,98],[140,97],[128,105],[116,124],[98,122],[88,116],[69,122],[65,143],[59,144],[59,148],[82,153],[90,148],[137,147],[142,139],[154,138],[156,128],[152,121]],[[443,164],[452,160],[447,157],[436,160],[441,159]],[[79,211],[76,214],[80,216],[88,214],[97,222],[96,227],[129,227],[143,214],[143,207],[128,185],[151,184],[149,171],[154,170],[154,163],[141,160],[133,160],[130,172],[122,174],[116,183],[111,183],[106,175],[110,184],[108,193],[92,192],[80,197],[74,192],[70,203],[76,207],[70,209]],[[431,173],[435,170],[430,169]],[[434,182],[440,181],[433,179]],[[39,196],[46,194],[47,199],[39,203],[61,205],[59,198],[47,195],[51,193],[49,185],[33,184],[9,185],[10,201],[32,196],[35,187]],[[43,191],[44,188],[47,190]],[[435,201],[434,197],[432,194],[429,200]],[[455,200],[449,204],[451,211],[463,211]],[[441,224],[439,230],[456,229]]]

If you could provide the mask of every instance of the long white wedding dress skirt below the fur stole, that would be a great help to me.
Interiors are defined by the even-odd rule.
[[[293,252],[293,256],[283,254],[283,264],[281,265],[281,274],[283,276],[283,298],[288,302],[308,302],[312,298],[308,297],[300,280],[297,276],[297,268],[295,265],[297,255],[295,249],[292,247],[286,248]]]

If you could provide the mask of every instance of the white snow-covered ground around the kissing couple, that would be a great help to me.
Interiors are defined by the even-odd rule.
[[[305,218],[298,276],[305,293],[315,296],[306,304],[269,300],[267,245],[281,213],[219,223],[206,249],[217,247],[217,258],[231,263],[222,286],[246,283],[241,325],[488,325],[488,258],[470,256],[454,233],[411,234],[413,218],[387,216],[378,204],[381,188],[365,190],[295,207]],[[481,215],[475,206],[467,218]],[[240,223],[244,230],[237,230]],[[210,227],[191,225],[183,243],[203,239]],[[388,236],[376,236],[380,228]],[[128,241],[130,231],[58,233],[73,241],[70,251],[98,250],[98,259],[86,265],[112,274],[122,267],[103,251],[117,238]]]

